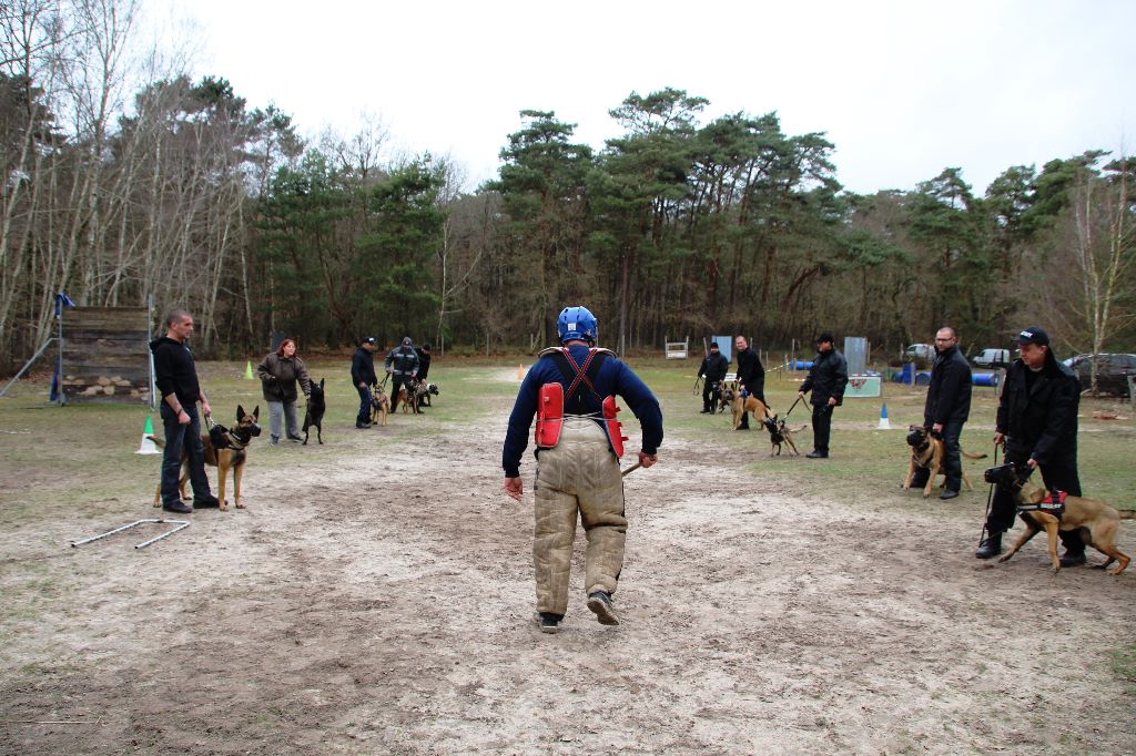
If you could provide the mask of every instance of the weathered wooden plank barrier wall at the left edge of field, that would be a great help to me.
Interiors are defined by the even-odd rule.
[[[148,404],[145,308],[64,310],[62,390],[68,403]]]

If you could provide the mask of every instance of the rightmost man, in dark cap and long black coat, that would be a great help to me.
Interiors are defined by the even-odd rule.
[[[1050,490],[1080,496],[1077,474],[1077,408],[1080,381],[1058,362],[1050,335],[1042,328],[1018,334],[1020,358],[1010,364],[997,406],[994,443],[1005,443],[1005,461],[1042,469]],[[1002,553],[1002,534],[1013,524],[1017,502],[1012,490],[997,486],[986,518],[986,537],[975,553],[988,560]],[[1085,544],[1076,531],[1061,532],[1062,566],[1085,563]]]

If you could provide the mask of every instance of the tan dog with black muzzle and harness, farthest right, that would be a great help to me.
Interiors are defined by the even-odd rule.
[[[1026,469],[1016,469],[1013,464],[1003,464],[987,470],[986,480],[1013,488],[1018,502],[1024,507],[1054,506],[1050,492],[1044,486],[1030,481],[1028,474]],[[1041,474],[1041,470],[1038,470],[1038,474]],[[1064,501],[1061,501],[1060,492],[1056,498],[1058,507],[1064,505],[1063,512],[1053,509],[1050,511],[1044,509],[1021,511],[1019,509],[1021,519],[1026,522],[1026,532],[1010,547],[1010,551],[999,558],[999,562],[1009,560],[1030,538],[1044,530],[1049,538],[1050,562],[1053,564],[1053,571],[1058,572],[1061,569],[1061,560],[1058,558],[1058,531],[1078,530],[1087,545],[1109,557],[1097,569],[1103,570],[1113,562],[1118,562],[1116,569],[1110,570],[1109,574],[1118,576],[1124,572],[1130,560],[1127,554],[1117,548],[1117,535],[1120,531],[1121,520],[1136,520],[1136,510],[1114,510],[1104,502],[1083,496],[1064,496]]]

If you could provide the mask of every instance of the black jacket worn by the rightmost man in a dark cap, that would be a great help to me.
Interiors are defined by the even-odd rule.
[[[1006,455],[1033,457],[1043,471],[1046,463],[1076,465],[1080,381],[1052,353],[1041,372],[1029,372],[1018,359],[1005,373],[997,431],[1006,436]]]

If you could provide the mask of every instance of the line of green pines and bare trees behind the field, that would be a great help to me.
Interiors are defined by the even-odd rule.
[[[1011,166],[978,196],[958,168],[912,191],[842,187],[821,133],[777,114],[705,120],[704,98],[630,93],[600,150],[525,110],[499,175],[390,159],[386,135],[306,142],[217,76],[130,68],[135,0],[15,0],[0,31],[0,350],[50,336],[52,297],[178,305],[198,348],[374,335],[532,350],[583,303],[617,351],[820,330],[878,346],[1024,324],[1062,351],[1136,336],[1133,163],[1100,150]],[[149,76],[148,76],[149,75]],[[130,96],[127,96],[130,92]]]

